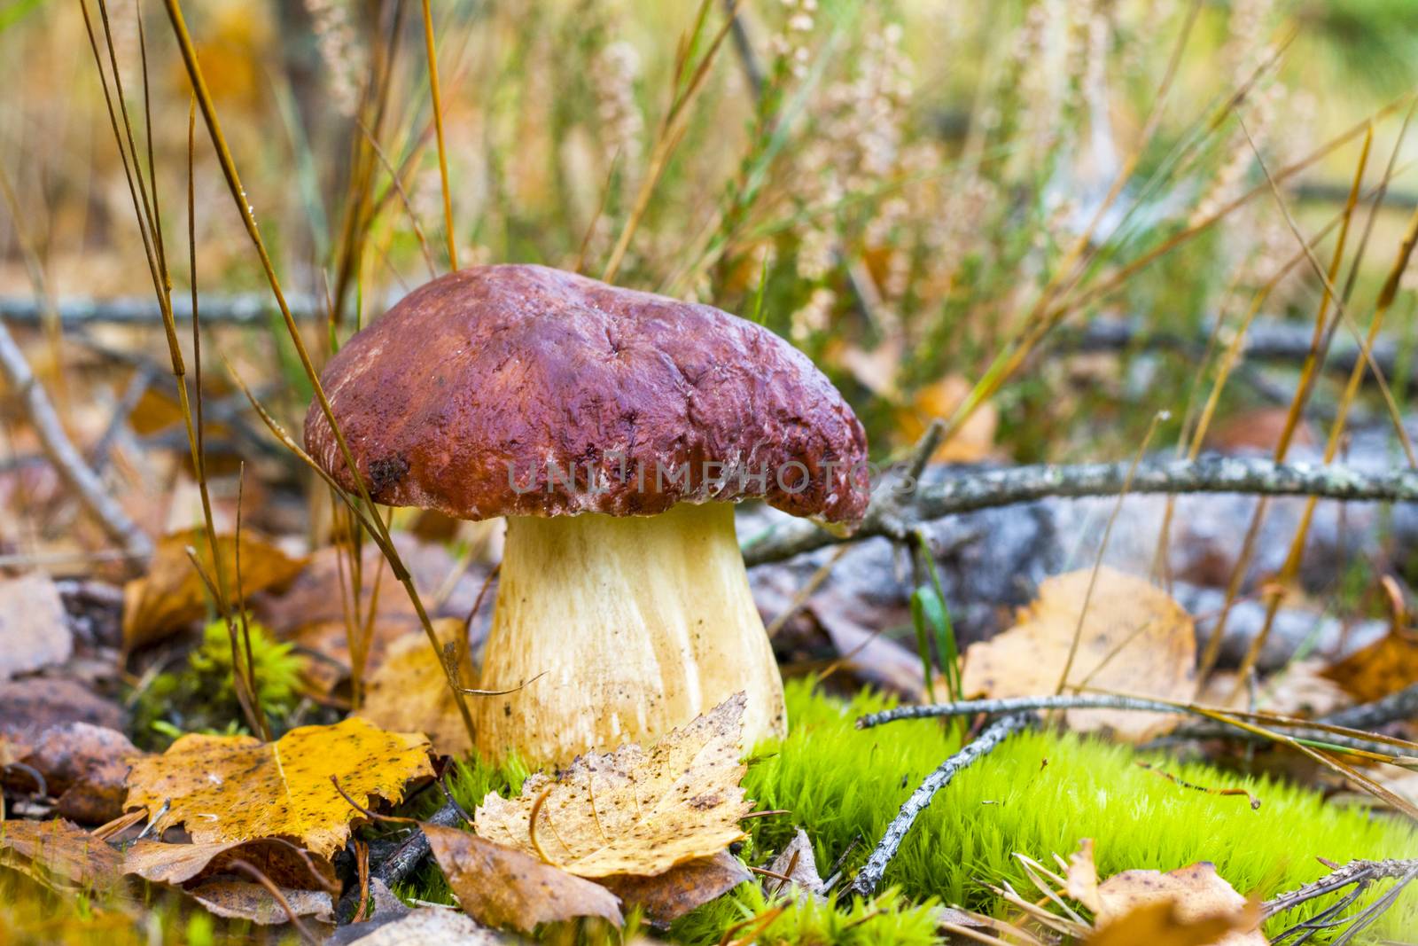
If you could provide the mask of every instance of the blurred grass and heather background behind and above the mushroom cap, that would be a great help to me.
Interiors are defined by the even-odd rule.
[[[328,350],[448,265],[418,4],[186,7],[248,200],[286,288],[329,316],[330,330],[308,325]],[[461,265],[605,269],[685,87],[676,48],[696,7],[434,4]],[[106,11],[139,133],[146,47],[162,217],[182,245],[186,72],[160,3],[108,0]],[[693,55],[723,14],[709,4]],[[1191,16],[1185,0],[744,0],[615,281],[791,339],[848,393],[876,454],[957,411],[1025,340],[942,458],[1122,455],[1159,408],[1173,420],[1157,444],[1190,435],[1185,408],[1205,396],[1224,346],[1207,362],[1146,343],[1122,357],[1055,355],[1099,316],[1127,319],[1141,342],[1205,339],[1218,323],[1225,340],[1297,248],[1261,162],[1276,172],[1306,157],[1409,89],[1418,64],[1405,0],[1205,0],[1149,136]],[[0,216],[0,292],[33,291],[28,241],[50,295],[150,295],[88,43],[75,3],[0,6],[0,160],[18,204]],[[1384,174],[1402,113],[1375,126],[1366,189]],[[1360,143],[1282,182],[1306,234],[1341,210]],[[1398,153],[1358,271],[1361,322],[1418,193],[1402,173],[1411,153]],[[262,291],[200,128],[196,160],[201,291]],[[1140,262],[1255,187],[1219,226]],[[1332,243],[1333,230],[1320,260]],[[1075,268],[1075,251],[1086,265]],[[179,281],[184,255],[170,264]],[[1262,312],[1312,322],[1320,292],[1309,265],[1292,265]],[[1411,336],[1411,313],[1404,292],[1388,326]],[[265,376],[292,363],[278,332],[224,350]],[[298,428],[305,382],[298,370],[274,380],[274,406]],[[1222,417],[1265,401],[1232,384]]]

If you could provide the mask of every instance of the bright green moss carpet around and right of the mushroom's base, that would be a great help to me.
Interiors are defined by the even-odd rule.
[[[810,682],[793,681],[787,701],[790,735],[781,743],[756,749],[744,786],[759,808],[791,814],[749,821],[750,837],[740,855],[750,864],[766,864],[801,827],[813,838],[824,874],[855,840],[842,867],[851,875],[906,796],[959,749],[959,736],[932,720],[858,730],[858,716],[891,705],[873,694],[842,702],[815,692]],[[1320,857],[1343,862],[1412,857],[1418,850],[1418,833],[1407,824],[1329,806],[1319,793],[1300,786],[1180,763],[1160,753],[1146,756],[1193,784],[1251,791],[1262,803],[1252,810],[1245,797],[1201,793],[1168,781],[1137,766],[1140,757],[1126,746],[1075,735],[1017,736],[936,796],[892,861],[883,881],[886,892],[872,902],[771,903],[757,884],[743,884],[675,923],[671,939],[718,943],[730,926],[786,906],[760,930],[757,942],[939,942],[932,922],[937,903],[1003,913],[986,884],[1007,881],[1015,889],[1034,889],[1014,858],[1017,852],[1048,864],[1054,854],[1075,851],[1082,838],[1095,840],[1103,877],[1130,868],[1170,871],[1212,861],[1238,891],[1261,898],[1322,877],[1327,868],[1316,859]],[[526,774],[516,760],[503,766],[472,760],[454,767],[450,787],[471,811],[488,791],[520,791]],[[431,811],[441,801],[441,793],[430,791],[420,806]],[[424,865],[397,892],[451,902],[432,865]],[[1313,915],[1324,903],[1279,918],[1272,932]],[[1418,891],[1388,911],[1373,932],[1397,936],[1415,925]]]

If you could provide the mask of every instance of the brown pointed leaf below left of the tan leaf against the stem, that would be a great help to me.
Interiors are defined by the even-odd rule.
[[[577,916],[624,922],[615,895],[598,884],[469,831],[425,824],[424,834],[458,903],[485,926],[530,933]]]

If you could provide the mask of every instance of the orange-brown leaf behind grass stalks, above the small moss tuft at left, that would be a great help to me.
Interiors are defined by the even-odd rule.
[[[123,586],[125,650],[162,640],[183,624],[207,614],[207,587],[187,557],[189,546],[197,552],[207,576],[216,581],[211,543],[203,530],[186,529],[159,539],[147,574]],[[217,538],[217,546],[221,550],[221,572],[227,589],[235,593],[235,538],[221,535]],[[303,567],[303,559],[292,559],[268,539],[242,529],[241,591],[244,594],[285,584]]]

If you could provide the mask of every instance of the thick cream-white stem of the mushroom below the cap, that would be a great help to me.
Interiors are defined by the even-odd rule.
[[[733,506],[509,518],[479,686],[533,678],[474,698],[485,756],[554,763],[648,745],[740,689],[744,746],[783,735],[783,679]]]

